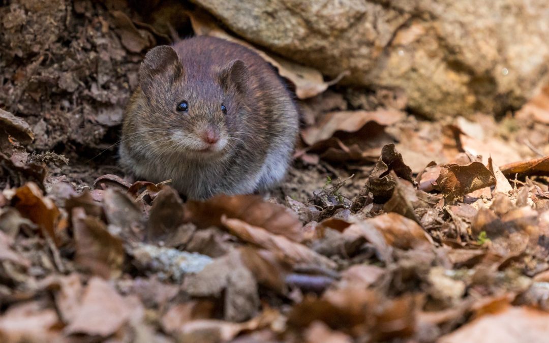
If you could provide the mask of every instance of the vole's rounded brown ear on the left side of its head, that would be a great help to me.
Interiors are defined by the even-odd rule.
[[[150,49],[139,67],[139,83],[143,90],[145,91],[150,82],[165,71],[172,71],[173,74],[170,75],[172,80],[183,72],[183,67],[175,50],[167,45]]]

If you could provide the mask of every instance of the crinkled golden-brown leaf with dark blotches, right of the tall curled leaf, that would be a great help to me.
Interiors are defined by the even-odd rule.
[[[452,204],[474,190],[491,187],[496,184],[494,174],[480,162],[468,165],[451,165],[442,168],[436,180],[446,201]]]

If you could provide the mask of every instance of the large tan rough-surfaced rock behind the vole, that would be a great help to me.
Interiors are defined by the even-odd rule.
[[[430,117],[516,109],[547,78],[544,0],[193,0],[250,42]]]

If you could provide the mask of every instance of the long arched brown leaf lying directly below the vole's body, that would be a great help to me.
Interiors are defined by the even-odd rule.
[[[282,205],[268,203],[257,195],[217,195],[205,201],[190,200],[185,208],[187,220],[199,228],[221,227],[221,217],[225,215],[301,241],[302,225],[295,213]]]

